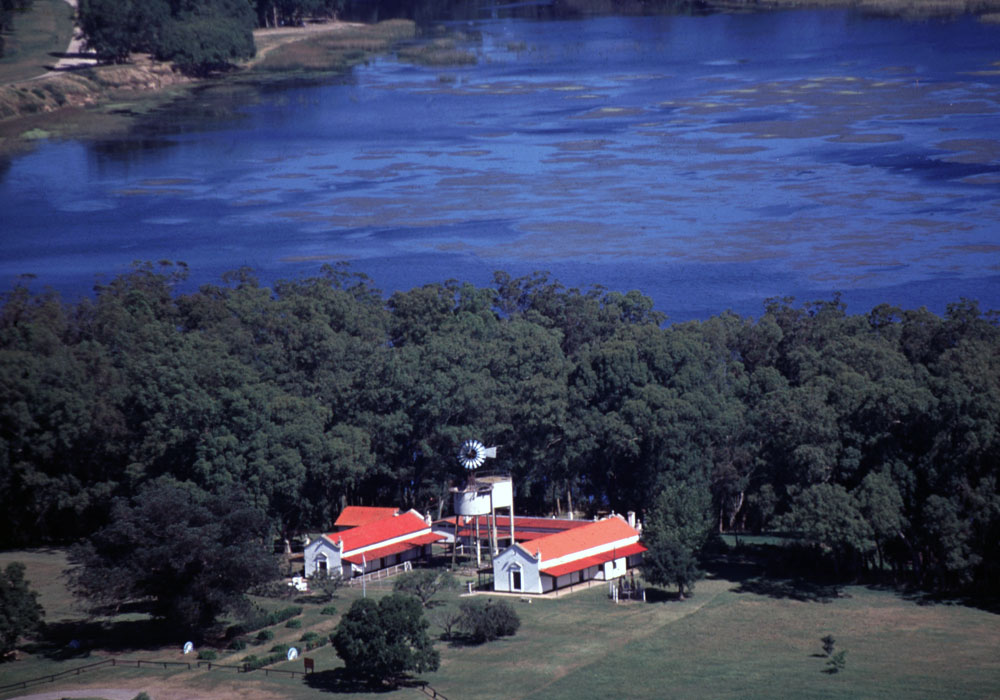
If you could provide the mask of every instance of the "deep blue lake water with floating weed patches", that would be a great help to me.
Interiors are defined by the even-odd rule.
[[[476,65],[217,87],[0,175],[0,282],[133,260],[391,292],[494,270],[673,320],[842,292],[1000,309],[1000,26],[842,11],[453,24]]]

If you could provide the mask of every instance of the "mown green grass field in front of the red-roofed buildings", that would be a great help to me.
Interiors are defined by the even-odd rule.
[[[24,561],[48,615],[73,614],[60,591],[53,552],[3,553],[0,563]],[[40,578],[42,580],[40,580]],[[371,586],[369,595],[387,588]],[[749,592],[756,590],[760,592]],[[746,592],[741,592],[746,591]],[[613,605],[606,588],[590,589],[530,604],[511,599],[522,626],[513,638],[484,646],[439,644],[441,668],[423,676],[448,698],[1000,698],[1000,616],[958,605],[922,605],[891,591],[862,586],[835,597],[789,595],[789,589],[751,586],[724,578],[700,581],[684,602]],[[341,589],[338,612],[360,590]],[[804,598],[804,599],[797,599]],[[456,595],[442,605],[457,605]],[[823,602],[825,601],[825,602]],[[289,601],[265,601],[271,608]],[[220,650],[218,663],[263,656],[272,645],[295,644],[309,631],[326,635],[339,615],[320,615],[323,606],[305,604],[300,628],[273,626],[274,639],[245,650]],[[433,617],[435,610],[429,615]],[[440,629],[432,625],[434,635]],[[847,666],[825,673],[820,638],[831,634],[847,651]],[[167,661],[191,660],[178,646],[139,650],[127,645],[94,650],[68,659],[41,650],[0,666],[5,682],[75,668],[106,656]],[[313,650],[318,673],[309,680],[265,677],[263,671],[101,668],[53,685],[8,692],[11,698],[49,690],[127,689],[154,700],[198,697],[317,698],[370,697],[345,686],[330,646]],[[49,653],[51,656],[51,652]],[[270,668],[301,670],[299,662]],[[54,687],[53,687],[54,686]],[[401,688],[380,697],[420,697]]]

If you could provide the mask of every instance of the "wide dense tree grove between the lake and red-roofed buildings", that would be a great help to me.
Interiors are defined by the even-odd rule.
[[[640,512],[667,577],[708,529],[784,528],[844,577],[1000,586],[1000,327],[974,302],[664,325],[637,292],[544,275],[386,302],[341,268],[180,293],[184,272],[7,294],[6,544],[93,533],[165,477],[239,490],[285,538],[347,503],[437,516],[475,437],[522,513]]]

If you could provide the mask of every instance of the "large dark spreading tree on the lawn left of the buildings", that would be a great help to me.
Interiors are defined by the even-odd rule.
[[[276,575],[264,514],[235,491],[212,496],[161,477],[112,508],[112,522],[75,547],[75,592],[92,603],[135,601],[177,631],[242,611],[245,593]]]

